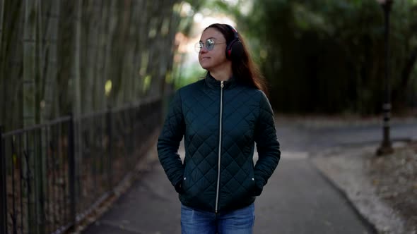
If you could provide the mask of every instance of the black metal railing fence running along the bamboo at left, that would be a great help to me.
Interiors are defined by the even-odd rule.
[[[112,194],[153,144],[161,100],[3,133],[0,233],[64,233]]]

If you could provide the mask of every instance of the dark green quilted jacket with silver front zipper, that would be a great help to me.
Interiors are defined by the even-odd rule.
[[[182,137],[184,163],[178,154]],[[178,90],[158,138],[160,164],[182,204],[216,213],[252,204],[280,156],[264,92],[233,77],[221,82],[208,74]]]

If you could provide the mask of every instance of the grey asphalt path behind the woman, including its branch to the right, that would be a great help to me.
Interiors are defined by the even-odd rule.
[[[277,133],[281,161],[255,202],[254,233],[373,233],[348,199],[312,165],[310,156],[331,147],[378,142],[381,126],[278,121]],[[393,141],[416,134],[414,122],[392,125]],[[158,161],[83,233],[180,233],[180,202]]]

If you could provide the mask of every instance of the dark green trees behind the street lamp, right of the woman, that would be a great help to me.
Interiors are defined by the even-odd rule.
[[[271,85],[278,111],[381,111],[384,99],[384,11],[374,0],[253,1],[240,32]],[[390,15],[390,86],[394,109],[415,77],[417,3],[394,1]],[[233,12],[233,11],[232,11]],[[254,42],[253,42],[254,41]],[[416,92],[411,90],[409,92]]]

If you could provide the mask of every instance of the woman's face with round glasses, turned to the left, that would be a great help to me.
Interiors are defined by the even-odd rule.
[[[206,47],[208,39],[214,42],[214,47],[211,50]],[[201,35],[200,42],[204,44],[199,52],[199,62],[202,68],[211,71],[221,68],[225,66],[225,63],[228,63],[228,58],[226,58],[225,54],[226,39],[220,31],[209,27]]]

